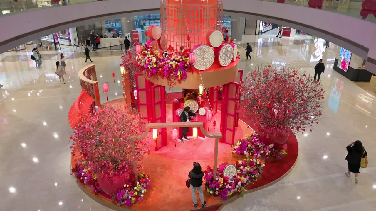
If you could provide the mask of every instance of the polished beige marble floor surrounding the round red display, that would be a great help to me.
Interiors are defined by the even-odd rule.
[[[312,74],[322,58],[326,66],[321,75],[326,89],[323,122],[313,132],[298,137],[299,159],[289,175],[271,187],[246,194],[223,211],[376,210],[375,97],[332,70],[340,47],[331,44],[325,50],[322,39],[276,38],[274,33],[244,36],[239,46],[250,42],[253,52],[252,60],[241,60],[240,69],[247,72],[259,63],[271,62]],[[244,49],[240,51],[244,58]],[[70,175],[67,115],[80,92],[77,71],[88,63],[83,53],[71,48],[41,53],[45,60],[38,70],[28,59],[30,52],[0,55],[0,84],[4,85],[0,89],[1,210],[110,210],[82,193]],[[59,83],[54,74],[59,53],[68,58],[66,84]],[[91,52],[91,58],[99,83],[110,84],[109,99],[120,97],[120,53]],[[105,102],[106,96],[101,97]],[[355,140],[364,143],[370,163],[362,169],[359,184],[353,175],[344,175],[346,146]]]

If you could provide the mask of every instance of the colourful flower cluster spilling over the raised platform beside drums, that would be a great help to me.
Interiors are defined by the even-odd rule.
[[[171,87],[176,82],[181,83],[187,78],[187,72],[192,69],[189,62],[190,49],[180,47],[179,50],[171,45],[167,48],[168,55],[153,48],[142,47],[143,51],[138,54],[138,65],[146,71],[147,77],[162,77],[167,80]]]

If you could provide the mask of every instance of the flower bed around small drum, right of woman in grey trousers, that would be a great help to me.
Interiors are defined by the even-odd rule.
[[[217,170],[218,176],[215,177],[213,169],[206,167],[205,173],[205,190],[212,196],[218,196],[227,200],[232,194],[241,194],[246,190],[246,186],[253,184],[260,176],[262,164],[258,160],[251,160],[248,157],[244,160],[238,160],[235,164],[237,173],[233,177],[223,175],[225,166],[220,166]]]

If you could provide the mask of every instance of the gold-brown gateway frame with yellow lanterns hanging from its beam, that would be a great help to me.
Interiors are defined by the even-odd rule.
[[[197,127],[201,128],[201,132],[204,134],[205,137],[215,139],[214,143],[214,167],[213,173],[217,175],[217,165],[218,165],[218,143],[219,139],[222,138],[221,133],[208,133],[203,128],[202,122],[167,122],[167,123],[148,123],[146,124],[146,130],[143,134],[136,136],[136,139],[131,138],[132,140],[132,156],[135,156],[135,140],[144,139],[147,134],[149,133],[150,129],[153,128],[186,128],[186,127]],[[133,160],[133,172],[135,174],[136,181],[138,181],[138,173],[137,173],[137,164],[136,161]]]

